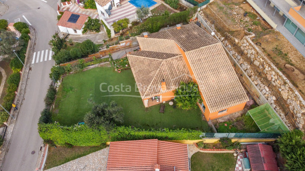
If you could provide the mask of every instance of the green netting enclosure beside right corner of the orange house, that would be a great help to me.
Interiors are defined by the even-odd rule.
[[[289,131],[289,128],[269,103],[249,110],[246,115],[252,117],[260,132],[283,133]]]

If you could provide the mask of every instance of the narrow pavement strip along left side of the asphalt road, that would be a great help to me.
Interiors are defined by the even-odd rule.
[[[30,59],[33,56],[33,51],[35,49],[35,45],[36,45],[36,30],[32,27],[29,26],[30,32],[31,32],[31,40],[29,41],[28,47],[27,47],[27,51],[25,53],[25,68],[23,67],[22,69],[22,74],[21,74],[21,78],[20,78],[20,82],[17,88],[17,92],[18,94],[15,96],[14,99],[14,103],[18,104],[19,106],[22,105],[23,99],[24,99],[24,94],[26,92],[26,85],[27,85],[27,80],[29,77],[29,71],[30,71],[30,65],[31,63],[29,61],[31,61]],[[19,107],[20,108],[20,107]],[[8,118],[7,120],[7,134],[4,137],[4,141],[3,141],[3,145],[1,147],[1,154],[0,154],[0,169],[2,170],[2,165],[5,161],[5,154],[9,149],[10,146],[10,139],[11,139],[11,135],[15,126],[15,122],[17,120],[18,114],[19,114],[20,110],[14,111],[13,109],[10,110],[10,113],[12,114],[12,116],[15,117],[15,119],[12,119],[11,117]]]

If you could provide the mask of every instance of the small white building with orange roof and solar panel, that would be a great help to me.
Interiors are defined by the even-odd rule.
[[[71,35],[82,35],[88,15],[64,11],[57,25],[61,32]]]

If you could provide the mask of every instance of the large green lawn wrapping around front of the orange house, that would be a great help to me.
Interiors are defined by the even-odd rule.
[[[122,92],[102,92],[108,87],[121,84]],[[110,85],[110,86],[109,86]],[[126,85],[131,88],[128,89]],[[121,88],[122,87],[122,88]],[[174,109],[166,103],[164,114],[159,113],[160,105],[145,108],[139,92],[135,90],[135,81],[131,70],[115,72],[112,67],[98,67],[85,72],[68,75],[63,78],[58,91],[54,121],[62,125],[74,125],[83,121],[83,116],[93,104],[114,100],[123,108],[125,126],[137,128],[194,128],[209,131],[207,122],[201,120],[199,108],[189,111]],[[116,90],[114,88],[114,90]],[[130,92],[126,92],[126,91]],[[117,96],[111,96],[117,95]],[[122,96],[123,95],[123,96]],[[126,96],[129,95],[129,96]]]

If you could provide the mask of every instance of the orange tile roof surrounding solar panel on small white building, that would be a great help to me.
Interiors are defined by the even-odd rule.
[[[70,18],[71,14],[79,15],[79,18],[77,19],[76,23],[68,22],[68,19]],[[85,14],[64,11],[64,13],[62,14],[61,19],[58,21],[57,25],[62,26],[62,27],[71,28],[71,29],[81,30],[81,28],[83,27],[87,18],[88,18],[88,15],[85,15]]]

